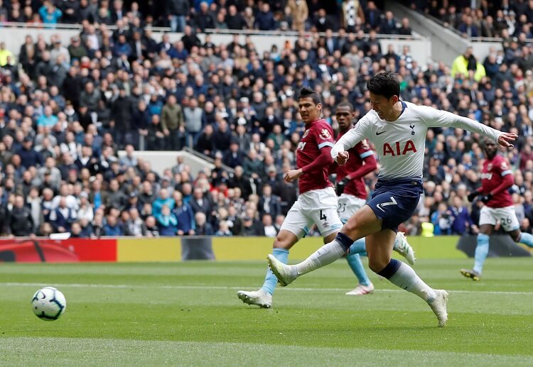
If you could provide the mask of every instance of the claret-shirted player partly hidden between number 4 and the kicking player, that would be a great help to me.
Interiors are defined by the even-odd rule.
[[[340,139],[353,127],[352,121],[355,113],[352,104],[349,102],[338,104],[335,117],[339,124],[339,135],[337,139]],[[350,153],[352,159],[348,160],[345,165],[335,165],[335,171],[337,173],[335,186],[337,195],[340,195],[338,198],[338,213],[340,221],[343,223],[346,223],[352,217],[352,214],[357,212],[357,209],[365,205],[367,190],[363,177],[377,168],[374,152],[367,141],[360,141],[353,148],[350,148],[348,153]],[[409,243],[407,243],[402,232],[397,233],[396,240],[394,241],[394,251],[399,252],[407,258],[407,261],[411,265],[414,264],[414,251]],[[367,295],[374,291],[374,285],[368,279],[360,259],[360,255],[365,256],[366,254],[365,239],[358,239],[350,246],[346,260],[359,283],[355,289],[346,292],[347,295]]]

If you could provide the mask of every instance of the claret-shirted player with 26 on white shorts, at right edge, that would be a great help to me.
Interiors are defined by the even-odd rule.
[[[497,155],[497,146],[494,141],[485,140],[483,150],[487,159],[483,163],[481,173],[481,187],[468,195],[468,201],[473,202],[475,197],[480,197],[485,206],[481,208],[479,218],[478,246],[475,246],[475,262],[473,270],[461,269],[461,274],[472,280],[480,280],[483,263],[488,255],[489,236],[497,222],[500,222],[504,231],[510,234],[515,242],[524,243],[533,247],[533,236],[520,231],[515,209],[512,206],[510,193],[507,191],[515,180],[511,170],[501,155]]]

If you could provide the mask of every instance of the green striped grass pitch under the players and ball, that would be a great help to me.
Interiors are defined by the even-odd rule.
[[[479,283],[465,260],[415,269],[450,292],[448,326],[418,297],[345,261],[296,280],[260,310],[237,299],[265,263],[0,265],[0,366],[533,366],[533,260],[489,259]],[[55,322],[31,312],[41,285],[63,291]]]

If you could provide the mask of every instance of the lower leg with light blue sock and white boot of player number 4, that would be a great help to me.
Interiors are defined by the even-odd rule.
[[[272,253],[276,259],[282,263],[287,262],[289,257],[289,249],[298,242],[298,237],[291,231],[282,229],[274,240],[272,245]],[[239,290],[237,297],[242,302],[248,305],[257,305],[262,308],[272,307],[272,294],[274,293],[274,287],[276,287],[277,278],[270,269],[266,270],[266,277],[264,279],[263,286],[259,290]]]

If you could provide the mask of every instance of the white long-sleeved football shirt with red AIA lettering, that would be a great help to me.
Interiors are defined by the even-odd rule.
[[[355,126],[335,143],[331,157],[348,150],[363,139],[371,141],[379,158],[379,178],[422,177],[426,131],[431,127],[463,128],[497,141],[500,131],[463,116],[428,106],[402,102],[404,111],[396,121],[380,119],[374,110],[368,111]],[[348,158],[350,159],[350,158]]]

